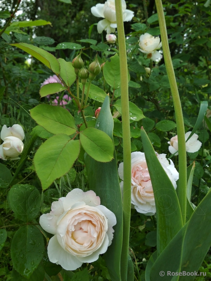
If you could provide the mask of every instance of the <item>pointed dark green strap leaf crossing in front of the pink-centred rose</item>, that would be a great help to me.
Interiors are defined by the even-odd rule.
[[[155,196],[157,213],[157,249],[158,255],[182,228],[182,215],[176,191],[162,168],[146,132],[141,130],[142,143],[147,167]],[[171,198],[171,201],[169,201]],[[166,231],[168,229],[169,231]]]

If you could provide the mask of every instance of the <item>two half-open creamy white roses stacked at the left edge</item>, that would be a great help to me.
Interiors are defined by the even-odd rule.
[[[3,143],[0,145],[0,158],[3,160],[19,159],[19,155],[22,153],[24,144],[22,140],[24,139],[23,128],[15,124],[12,127],[7,128],[4,125],[1,129],[1,139]]]

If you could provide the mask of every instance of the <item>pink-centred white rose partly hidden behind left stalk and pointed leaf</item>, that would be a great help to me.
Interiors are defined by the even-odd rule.
[[[163,169],[167,173],[174,188],[176,189],[176,181],[179,173],[174,167],[174,163],[166,159],[166,154],[158,154],[155,152]],[[119,164],[119,178],[123,180],[123,163]],[[120,182],[121,191],[123,192],[123,181]],[[155,214],[155,198],[149,171],[146,164],[146,158],[143,152],[135,151],[131,153],[131,204],[137,212],[152,216]]]

